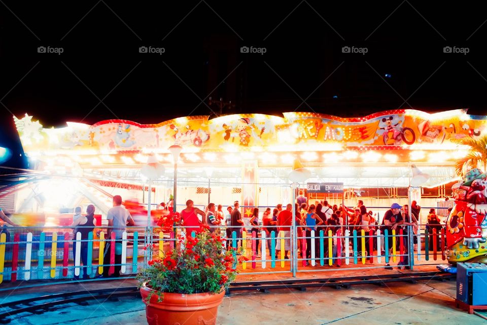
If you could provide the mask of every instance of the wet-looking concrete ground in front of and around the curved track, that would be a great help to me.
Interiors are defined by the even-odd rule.
[[[311,274],[309,274],[311,275]],[[134,285],[133,280],[63,284],[61,291]],[[60,292],[60,285],[0,293],[0,302]],[[10,294],[10,295],[9,295]],[[387,285],[241,291],[225,297],[218,324],[480,324],[487,320],[455,307],[456,282],[436,280]],[[119,301],[89,301],[67,305],[40,315],[25,315],[12,324],[145,324],[145,305],[133,297]]]

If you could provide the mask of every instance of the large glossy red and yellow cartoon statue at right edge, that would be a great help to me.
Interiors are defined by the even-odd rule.
[[[447,258],[456,262],[487,262],[487,174],[472,169],[464,182],[451,187],[455,206],[446,219]]]

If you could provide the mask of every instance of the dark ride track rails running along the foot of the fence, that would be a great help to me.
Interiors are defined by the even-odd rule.
[[[455,279],[455,274],[440,272],[411,272],[396,273],[387,275],[368,275],[368,276],[350,276],[318,279],[284,279],[284,280],[265,280],[265,281],[245,281],[232,282],[227,295],[233,291],[258,290],[267,293],[270,289],[290,289],[305,291],[307,287],[329,286],[336,289],[349,288],[352,285],[360,284],[377,284],[382,285],[389,282],[411,282],[415,283],[420,280],[450,280]],[[97,290],[84,290],[71,293],[53,294],[41,297],[28,298],[18,301],[12,301],[0,305],[0,323],[6,324],[11,322],[14,315],[21,313],[42,314],[53,311],[58,308],[55,306],[75,303],[85,305],[88,300],[110,300],[122,296],[140,297],[140,291],[135,286],[121,288],[107,288]],[[69,307],[69,306],[67,306]],[[66,308],[66,307],[59,307]]]

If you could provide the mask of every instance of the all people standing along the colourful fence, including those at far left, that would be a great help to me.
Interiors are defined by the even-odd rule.
[[[172,209],[172,200],[168,202],[168,204],[162,204],[163,209]],[[323,231],[325,237],[329,236],[330,232],[333,236],[333,261],[336,261],[337,256],[344,256],[344,239],[340,238],[344,236],[345,231],[349,230],[350,234],[353,235],[354,231],[357,232],[357,236],[361,236],[362,230],[365,232],[365,247],[364,250],[366,251],[367,256],[375,256],[376,254],[374,251],[380,250],[380,255],[384,256],[386,254],[385,251],[385,240],[388,241],[388,248],[389,250],[393,247],[393,237],[391,236],[392,231],[396,230],[396,247],[399,247],[400,241],[403,242],[403,258],[402,262],[399,262],[398,266],[403,267],[408,265],[408,247],[409,245],[406,243],[408,231],[412,230],[414,234],[418,232],[418,220],[420,216],[420,209],[421,207],[415,202],[412,201],[411,204],[411,219],[409,219],[409,207],[408,205],[399,205],[398,203],[394,203],[391,205],[391,208],[387,210],[382,217],[381,223],[378,223],[378,220],[374,216],[373,212],[367,210],[364,206],[362,200],[358,200],[357,206],[354,208],[349,208],[344,205],[331,205],[328,201],[320,201],[315,200],[314,204],[309,204],[306,197],[304,197],[303,190],[299,190],[299,195],[295,201],[295,215],[294,220],[296,224],[296,235],[297,235],[297,249],[298,254],[301,255],[302,258],[306,260],[306,263],[309,264],[311,259],[316,259],[321,256],[320,252],[320,241],[319,237],[321,236],[320,232]],[[292,204],[287,204],[283,207],[282,204],[277,204],[275,208],[267,207],[262,213],[262,217],[259,217],[260,210],[259,208],[255,207],[252,210],[252,214],[248,219],[248,222],[244,221],[245,219],[242,218],[242,213],[240,212],[240,205],[238,201],[233,203],[233,206],[228,206],[226,209],[222,205],[215,205],[214,203],[208,204],[204,211],[200,210],[199,208],[194,206],[194,202],[192,200],[188,200],[186,202],[186,208],[180,212],[181,216],[181,223],[180,226],[183,226],[184,231],[187,234],[191,234],[194,232],[201,231],[201,225],[206,224],[209,226],[209,231],[211,232],[219,232],[222,236],[226,236],[227,238],[227,248],[232,246],[233,238],[235,238],[237,245],[241,246],[241,238],[242,238],[242,231],[247,232],[247,238],[255,239],[255,251],[256,257],[259,258],[261,252],[261,241],[262,238],[260,236],[261,231],[265,232],[265,240],[266,240],[266,248],[268,251],[268,255],[272,256],[274,253],[274,257],[276,259],[280,259],[282,254],[284,255],[284,259],[289,259],[289,251],[291,250],[291,226],[293,223],[293,206]],[[79,232],[81,233],[81,263],[83,265],[87,264],[87,250],[88,250],[88,242],[83,241],[88,239],[88,234],[93,231],[95,227],[95,220],[94,220],[94,212],[95,207],[93,205],[88,205],[86,209],[86,214],[82,214],[81,207],[75,208],[75,214],[73,217],[73,223],[71,226],[73,227],[73,238],[76,239],[76,234]],[[198,217],[199,216],[199,217]],[[0,209],[0,218],[13,226],[18,226],[14,223],[8,216],[4,214],[4,212]],[[105,245],[105,251],[103,254],[103,264],[107,265],[107,267],[103,268],[102,277],[109,277],[114,276],[117,277],[120,275],[121,269],[121,245],[122,245],[122,233],[126,231],[126,226],[134,225],[134,221],[132,216],[130,215],[129,211],[122,206],[122,198],[120,196],[113,197],[113,207],[107,213],[108,225],[109,228],[107,230],[107,235],[105,238],[111,238],[112,232],[115,234],[115,268],[112,274],[109,274],[109,265],[110,263],[110,250],[111,250],[111,242],[108,241]],[[411,227],[408,227],[411,226]],[[430,209],[428,214],[428,223],[427,229],[429,234],[433,233],[433,230],[436,229],[436,233],[439,234],[443,225],[441,224],[440,218],[435,213],[435,209]],[[208,227],[207,227],[208,228]],[[399,230],[402,229],[403,236],[399,235]],[[372,234],[375,236],[377,234],[377,230],[380,230],[381,234],[381,247],[377,247],[376,237],[367,237]],[[388,231],[389,236],[387,239],[385,238],[385,231]],[[311,237],[312,231],[315,232],[315,249],[313,250],[311,245]],[[338,235],[338,236],[335,236]],[[235,236],[235,237],[234,237]],[[272,236],[274,237],[274,243],[272,243]],[[305,243],[303,243],[303,239],[305,238]],[[281,243],[281,240],[284,241],[284,244]],[[342,249],[337,251],[337,241],[341,241]],[[373,240],[373,244],[369,244],[369,241]],[[416,250],[416,236],[413,236],[414,240],[414,250]],[[433,249],[433,241],[436,241],[436,247],[440,250],[440,236],[430,236],[429,237],[429,247],[430,250]],[[272,244],[274,244],[274,251],[272,251]],[[351,242],[350,251],[353,251],[353,243]],[[357,256],[361,256],[362,252],[362,241],[357,241],[357,252],[354,252]],[[304,245],[306,246],[304,248]],[[370,248],[373,248],[371,250]],[[250,249],[250,247],[248,247]],[[253,248],[252,248],[253,249]],[[281,252],[281,249],[284,252]],[[73,256],[75,257],[76,252],[76,245],[73,245]],[[328,244],[324,245],[324,256],[328,256]],[[314,255],[312,252],[314,251]],[[388,252],[391,256],[391,252]],[[354,255],[352,255],[354,256]],[[117,265],[118,264],[118,265]],[[391,268],[390,265],[387,265],[388,268]],[[87,269],[83,267],[83,274],[80,275],[83,278],[87,278]],[[78,278],[78,276],[75,276]]]

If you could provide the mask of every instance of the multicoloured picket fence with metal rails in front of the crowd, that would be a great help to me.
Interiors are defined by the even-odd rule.
[[[239,275],[336,271],[346,269],[413,269],[445,263],[444,225],[419,225],[386,229],[369,225],[212,226],[227,241],[224,249],[241,247]],[[354,229],[355,228],[355,229]],[[127,226],[125,230],[95,226],[87,238],[69,227],[8,227],[0,235],[0,291],[7,282],[135,277],[153,257],[177,245],[187,233],[184,226],[170,232],[160,228]],[[190,229],[193,231],[194,227]],[[107,236],[111,231],[111,236]],[[118,231],[116,233],[116,231]],[[293,236],[297,234],[297,236]],[[193,234],[194,236],[194,234]],[[147,248],[153,249],[147,249]],[[236,255],[237,252],[235,251]],[[155,256],[153,256],[155,255]],[[397,265],[393,265],[397,264]],[[35,284],[38,285],[38,284]]]

